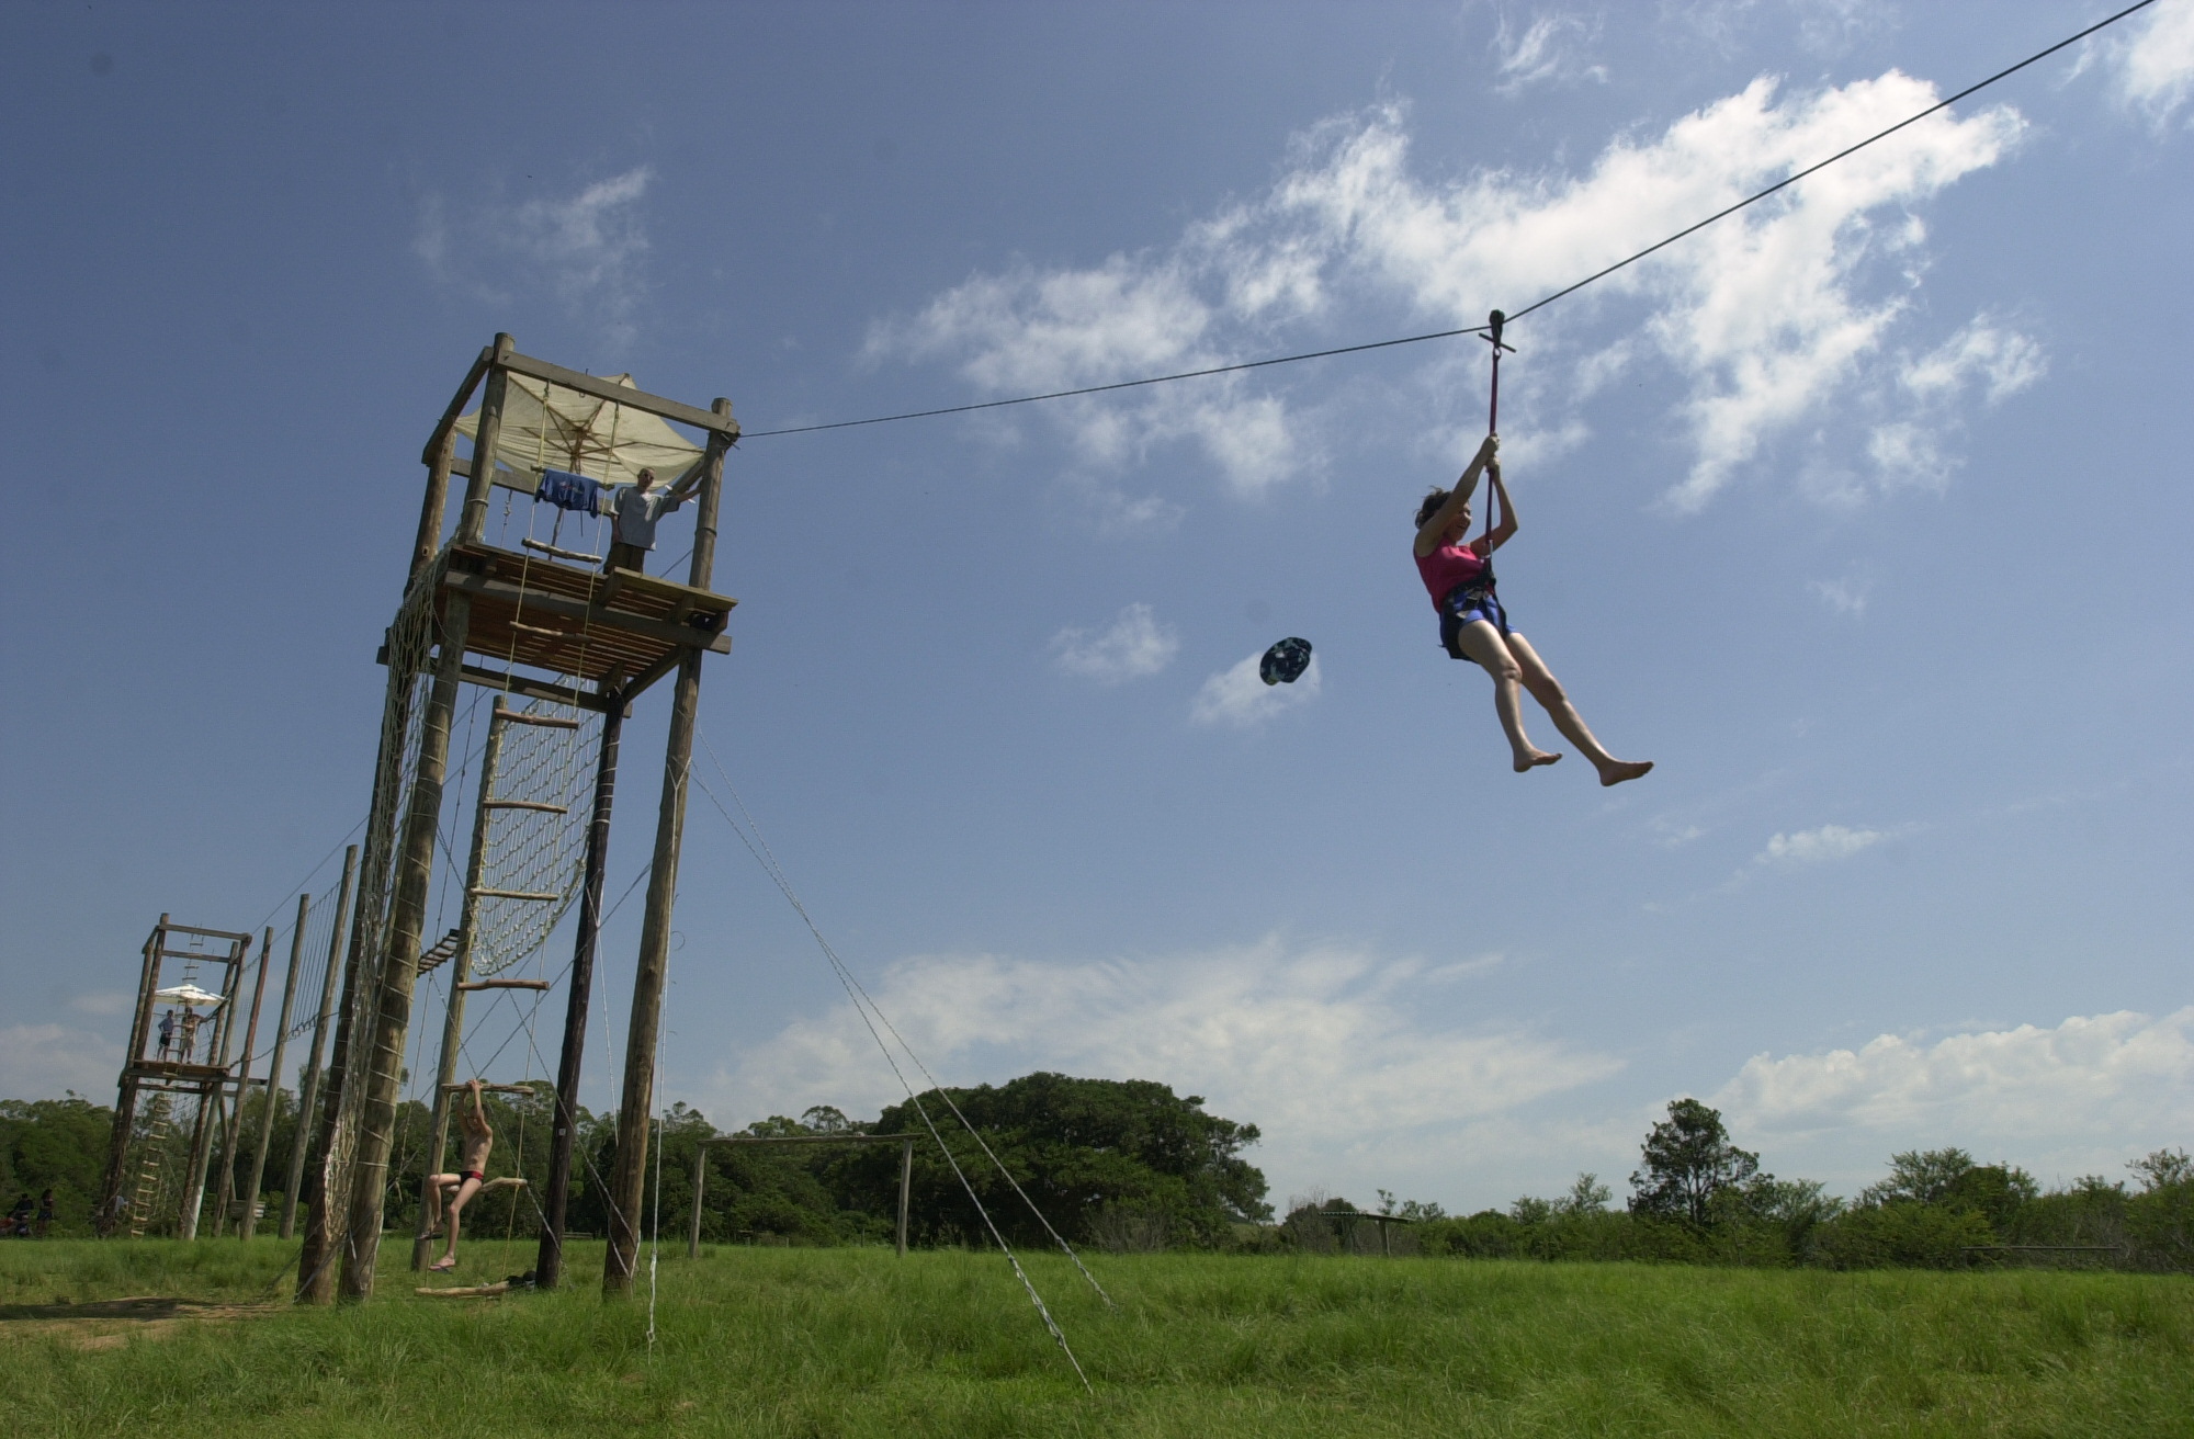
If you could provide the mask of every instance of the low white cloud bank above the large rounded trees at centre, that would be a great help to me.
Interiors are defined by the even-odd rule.
[[[1266,939],[1084,963],[919,956],[893,965],[875,994],[948,1084],[1031,1068],[1158,1079],[1262,1125],[1259,1165],[1301,1169],[1312,1152],[1452,1136],[1619,1068],[1529,1031],[1457,1031],[1422,1018],[1422,985],[1490,963],[1496,956],[1435,967]],[[711,1103],[739,1123],[810,1103],[873,1112],[902,1097],[845,1005],[755,1046],[713,1088]]]

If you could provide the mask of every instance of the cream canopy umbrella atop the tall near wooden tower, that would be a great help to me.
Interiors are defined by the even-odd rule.
[[[638,388],[632,375],[603,379]],[[459,417],[456,432],[478,441],[480,412]],[[496,437],[494,483],[533,494],[542,469],[568,469],[603,485],[632,485],[641,469],[654,469],[656,480],[669,485],[700,456],[700,445],[671,430],[660,415],[511,375]]]

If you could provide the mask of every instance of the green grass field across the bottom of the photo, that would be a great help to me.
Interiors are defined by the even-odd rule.
[[[1029,1270],[1082,1391],[994,1255],[663,1259],[656,1342],[557,1294],[292,1310],[294,1246],[0,1246],[7,1435],[2187,1435],[2194,1283],[2069,1272],[1099,1257]],[[529,1268],[467,1246],[465,1281]],[[121,1296],[233,1310],[165,1316]]]

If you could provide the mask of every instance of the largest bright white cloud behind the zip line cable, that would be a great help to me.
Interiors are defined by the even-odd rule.
[[[1549,46],[1571,29],[1525,29],[1507,50],[1516,72],[1553,64]],[[1472,325],[1494,303],[1516,309],[1935,99],[1933,83],[1896,70],[1790,92],[1762,77],[1659,134],[1617,136],[1582,173],[1474,171],[1450,182],[1413,171],[1404,107],[1347,114],[1299,136],[1268,191],[1189,224],[1169,248],[1086,270],[979,274],[913,318],[878,325],[869,355],[950,360],[979,393],[1005,395],[1356,340],[1380,325]],[[1909,366],[1909,386],[1869,358],[1909,320],[1920,283],[1924,226],[1911,206],[1994,165],[2021,129],[2003,107],[1935,114],[1534,318],[1518,441],[1545,432],[1558,437],[1549,450],[1575,443],[1577,408],[1626,366],[1654,364],[1685,390],[1676,432],[1689,472],[1670,489],[1683,509],[1768,469],[1773,445],[1808,443],[1839,397],[1863,401],[1878,432],[1841,454],[1871,454],[1887,478],[1946,474],[1944,406],[1968,377],[1994,397],[2029,384],[2038,349],[1983,316]],[[1613,342],[1608,327],[1632,342]],[[1452,393],[1463,364],[1459,353],[1428,358],[1420,375]],[[1047,419],[1066,426],[1084,463],[1126,467],[1187,443],[1251,496],[1314,469],[1319,415],[1299,412],[1286,386],[1308,393],[1312,382],[1259,371],[1255,382],[1229,375],[1068,401]],[[1347,404],[1332,379],[1316,393],[1327,408]],[[1448,419],[1420,426],[1439,439]],[[1926,434],[1896,430],[1922,421]],[[1830,491],[1850,498],[1863,487]]]

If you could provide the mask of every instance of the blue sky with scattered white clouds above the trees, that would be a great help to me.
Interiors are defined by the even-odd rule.
[[[0,1092],[110,1095],[151,921],[358,823],[494,331],[755,432],[1470,325],[2104,13],[13,9]],[[2190,118],[2163,0],[1518,325],[1503,592],[1641,783],[1509,774],[1435,647],[1477,342],[748,439],[702,774],[941,1077],[1172,1081],[1275,1198],[1619,1178],[1676,1095],[1845,1193],[2122,1174],[2194,1141]],[[678,943],[669,1099],[895,1097],[704,796]]]

